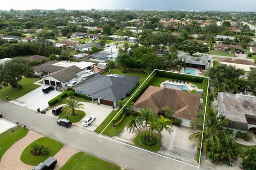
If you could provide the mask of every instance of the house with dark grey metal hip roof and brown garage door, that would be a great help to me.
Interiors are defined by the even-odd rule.
[[[128,93],[138,86],[139,79],[139,77],[130,75],[107,77],[97,74],[82,84],[78,84],[74,90],[78,94],[92,97],[92,101],[98,100],[98,104],[115,108],[119,100],[124,99]]]

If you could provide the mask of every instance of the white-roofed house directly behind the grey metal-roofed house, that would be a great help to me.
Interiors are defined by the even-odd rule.
[[[107,48],[99,53],[90,55],[90,60],[95,62],[117,61],[118,51],[116,48]]]

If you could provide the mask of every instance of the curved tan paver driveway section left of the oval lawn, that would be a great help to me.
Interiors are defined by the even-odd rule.
[[[26,137],[14,143],[3,155],[0,162],[0,170],[27,170],[34,166],[26,165],[21,162],[20,156],[23,150],[35,140],[42,138],[43,135],[34,131],[29,131]]]

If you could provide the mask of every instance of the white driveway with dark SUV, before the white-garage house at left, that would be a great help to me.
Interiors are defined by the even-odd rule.
[[[10,102],[22,107],[32,109],[33,111],[36,111],[37,108],[40,108],[42,111],[48,107],[49,100],[61,94],[60,91],[56,90],[50,91],[49,94],[44,94],[42,92],[42,88],[45,86],[46,85],[38,87],[37,89],[30,91],[28,94]]]

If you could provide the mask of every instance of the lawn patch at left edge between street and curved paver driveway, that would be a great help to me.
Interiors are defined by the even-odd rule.
[[[15,130],[15,132],[11,132],[12,130]],[[0,161],[6,150],[8,150],[15,142],[25,137],[28,131],[28,129],[25,130],[23,127],[16,126],[0,134]]]

